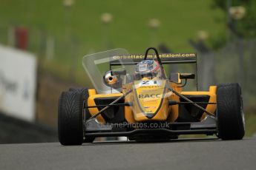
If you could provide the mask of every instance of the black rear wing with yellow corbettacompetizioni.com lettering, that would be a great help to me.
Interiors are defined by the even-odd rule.
[[[110,66],[134,65],[144,59],[145,55],[114,55],[110,59]],[[197,63],[197,53],[165,53],[159,55],[162,64]],[[157,55],[148,55],[148,59]]]

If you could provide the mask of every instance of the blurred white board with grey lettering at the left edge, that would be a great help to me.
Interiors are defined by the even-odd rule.
[[[35,120],[35,55],[0,45],[0,111],[23,120]]]

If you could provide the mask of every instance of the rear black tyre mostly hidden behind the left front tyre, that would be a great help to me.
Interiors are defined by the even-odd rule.
[[[71,87],[69,89],[70,92],[79,92],[79,94],[82,97],[82,100],[85,101],[85,106],[88,106],[88,98],[89,98],[89,92],[88,92],[88,88],[85,87]],[[89,113],[88,109],[85,109],[85,120],[87,120],[88,118],[91,118],[91,115]],[[93,140],[95,139],[95,137],[86,137],[84,142],[85,143],[92,143]]]

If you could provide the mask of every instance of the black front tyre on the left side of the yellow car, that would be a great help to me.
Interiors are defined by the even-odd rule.
[[[81,145],[83,101],[79,92],[62,92],[58,108],[59,142],[62,145]]]

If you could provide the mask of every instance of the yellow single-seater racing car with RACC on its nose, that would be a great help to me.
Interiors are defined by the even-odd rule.
[[[149,51],[153,50],[153,54]],[[195,64],[195,72],[169,72],[169,66]],[[197,90],[197,54],[145,55],[116,49],[86,55],[83,67],[93,88],[70,88],[59,97],[62,145],[92,143],[96,137],[128,140],[177,139],[179,135],[217,135],[240,140],[245,134],[239,84]],[[169,74],[166,74],[169,72]],[[185,90],[187,81],[196,89]]]

